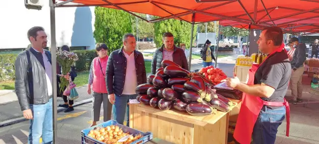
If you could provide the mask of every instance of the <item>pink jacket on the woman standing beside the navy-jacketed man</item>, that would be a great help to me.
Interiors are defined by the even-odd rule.
[[[108,56],[104,58],[96,57],[91,64],[91,70],[89,75],[89,84],[93,84],[93,91],[96,93],[107,94],[106,91],[106,64]],[[101,63],[101,66],[100,66]],[[102,71],[101,71],[102,67]]]

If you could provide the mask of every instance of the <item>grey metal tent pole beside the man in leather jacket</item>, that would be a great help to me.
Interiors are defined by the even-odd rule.
[[[55,141],[57,140],[57,102],[56,102],[56,42],[55,42],[55,8],[54,3],[55,0],[50,1],[50,23],[51,23],[51,53],[52,53],[52,94],[53,94],[53,102],[52,102],[52,112],[53,112],[53,144],[56,144]]]

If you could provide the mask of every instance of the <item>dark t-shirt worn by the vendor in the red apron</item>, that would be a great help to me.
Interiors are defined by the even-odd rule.
[[[269,56],[255,73],[254,84],[264,83],[275,89],[269,97],[262,97],[265,101],[284,102],[288,90],[288,83],[292,74],[292,67],[287,53],[282,50]]]

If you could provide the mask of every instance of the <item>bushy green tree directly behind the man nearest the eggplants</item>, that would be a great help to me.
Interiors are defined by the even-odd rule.
[[[196,38],[197,25],[194,25],[193,42]],[[162,35],[165,32],[171,32],[174,35],[174,43],[179,46],[181,43],[186,44],[186,48],[190,48],[190,31],[191,24],[184,21],[169,19],[154,24],[155,44],[160,47],[162,43]]]

